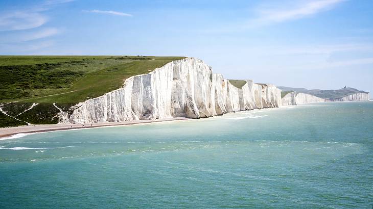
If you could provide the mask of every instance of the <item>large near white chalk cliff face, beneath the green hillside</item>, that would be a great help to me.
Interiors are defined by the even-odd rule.
[[[127,79],[120,89],[80,102],[60,122],[96,123],[171,117],[206,118],[282,105],[281,90],[246,81],[237,88],[195,58],[166,64]]]

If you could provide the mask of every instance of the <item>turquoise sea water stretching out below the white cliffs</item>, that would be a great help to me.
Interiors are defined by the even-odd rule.
[[[370,208],[373,102],[0,140],[0,207]]]

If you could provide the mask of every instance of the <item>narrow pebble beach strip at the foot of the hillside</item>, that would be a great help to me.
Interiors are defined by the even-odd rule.
[[[146,124],[146,123],[178,121],[178,120],[192,120],[192,119],[178,117],[178,118],[164,118],[164,119],[156,119],[156,120],[132,120],[132,121],[125,121],[125,122],[103,122],[103,123],[93,123],[93,124],[59,123],[59,124],[5,127],[5,128],[0,128],[0,140],[2,140],[2,138],[12,137],[17,134],[33,134],[33,133],[42,133],[42,132],[53,132],[56,130],[73,130],[73,129],[82,129],[82,128],[123,126],[123,125]]]

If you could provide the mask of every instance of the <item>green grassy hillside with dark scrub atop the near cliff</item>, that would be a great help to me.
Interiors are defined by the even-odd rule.
[[[0,127],[57,123],[59,110],[101,96],[183,57],[138,56],[0,56]],[[10,103],[14,102],[16,103]],[[24,112],[33,102],[39,105]],[[5,105],[7,104],[7,105]]]

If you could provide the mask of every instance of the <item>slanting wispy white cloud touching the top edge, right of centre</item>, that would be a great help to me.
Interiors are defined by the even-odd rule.
[[[299,19],[322,11],[330,10],[346,0],[317,0],[293,6],[290,9],[258,9],[258,17],[248,22],[248,27],[258,27],[277,22]]]

